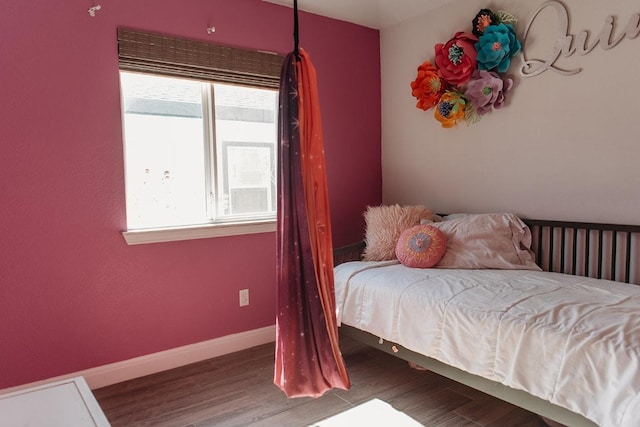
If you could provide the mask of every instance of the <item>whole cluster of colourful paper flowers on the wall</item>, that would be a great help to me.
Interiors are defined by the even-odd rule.
[[[411,82],[416,107],[434,108],[434,117],[444,128],[462,121],[475,123],[500,109],[513,86],[504,73],[522,48],[516,23],[507,12],[481,9],[471,22],[471,32],[458,31],[446,43],[436,44],[433,63],[423,62]]]

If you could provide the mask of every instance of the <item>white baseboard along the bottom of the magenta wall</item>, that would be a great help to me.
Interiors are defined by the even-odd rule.
[[[260,329],[214,338],[212,340],[185,345],[183,347],[172,348],[171,350],[147,354],[133,359],[123,360],[121,362],[110,363],[96,368],[85,369],[84,371],[73,372],[43,381],[23,384],[17,387],[0,390],[0,394],[10,393],[78,376],[84,377],[87,384],[89,384],[89,387],[93,390],[133,378],[188,365],[190,363],[211,359],[212,357],[245,350],[257,345],[267,344],[269,342],[274,342],[275,339],[275,325],[266,326]]]

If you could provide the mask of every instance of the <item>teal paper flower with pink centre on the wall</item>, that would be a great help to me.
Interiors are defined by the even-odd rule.
[[[478,69],[505,73],[511,65],[511,57],[520,51],[521,45],[513,26],[500,23],[485,28],[475,47]]]

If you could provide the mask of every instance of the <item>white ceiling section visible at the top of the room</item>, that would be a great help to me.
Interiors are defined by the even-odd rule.
[[[293,0],[263,0],[293,7]],[[383,29],[453,0],[298,0],[298,9],[316,15]]]

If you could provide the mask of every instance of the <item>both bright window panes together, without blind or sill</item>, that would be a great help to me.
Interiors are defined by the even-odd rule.
[[[120,82],[130,230],[275,217],[276,91],[125,71]]]

